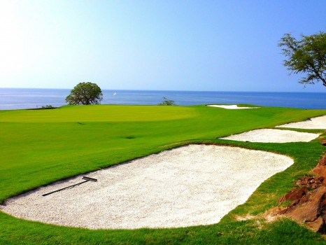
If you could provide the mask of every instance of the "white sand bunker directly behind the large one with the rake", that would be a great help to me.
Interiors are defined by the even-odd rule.
[[[309,142],[316,139],[320,134],[295,132],[291,130],[252,130],[242,134],[234,134],[220,139],[234,141],[264,142],[264,143],[288,143]]]

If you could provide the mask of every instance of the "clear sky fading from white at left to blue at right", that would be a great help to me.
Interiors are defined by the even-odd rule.
[[[325,11],[325,0],[0,0],[0,87],[326,92],[288,76],[277,46],[325,31]]]

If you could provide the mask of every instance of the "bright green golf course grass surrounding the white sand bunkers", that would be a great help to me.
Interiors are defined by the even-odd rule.
[[[295,159],[292,167],[265,181],[246,204],[217,225],[86,230],[23,221],[0,212],[0,244],[325,244],[322,236],[288,220],[258,224],[257,220],[234,219],[235,214],[257,215],[275,206],[295,178],[316,165],[325,147],[317,140],[255,144],[216,139],[325,114],[325,110],[207,106],[63,106],[0,111],[0,202],[58,179],[191,142],[232,144]]]

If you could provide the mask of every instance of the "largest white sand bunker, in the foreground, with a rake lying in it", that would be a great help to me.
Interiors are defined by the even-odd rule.
[[[171,228],[218,223],[293,160],[226,146],[190,145],[77,176],[7,200],[1,210],[31,221],[90,229]]]

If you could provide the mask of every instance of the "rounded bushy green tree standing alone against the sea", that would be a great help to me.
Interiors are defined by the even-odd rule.
[[[99,104],[102,99],[101,88],[96,83],[78,83],[66,97],[66,103]]]

